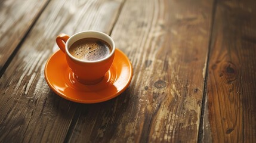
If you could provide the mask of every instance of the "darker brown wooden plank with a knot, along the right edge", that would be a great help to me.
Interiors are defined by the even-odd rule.
[[[255,17],[255,1],[217,1],[204,120],[204,136],[212,139],[206,142],[256,142]]]

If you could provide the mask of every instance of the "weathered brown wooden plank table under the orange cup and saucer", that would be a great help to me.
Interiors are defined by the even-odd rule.
[[[0,1],[0,142],[256,142],[256,2]],[[112,36],[134,76],[78,104],[44,79],[55,37]]]

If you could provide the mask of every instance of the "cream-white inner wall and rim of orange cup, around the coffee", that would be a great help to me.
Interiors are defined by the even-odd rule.
[[[84,61],[84,60],[80,60],[78,58],[73,57],[73,55],[71,55],[70,52],[69,52],[70,46],[73,43],[75,43],[76,41],[78,41],[80,39],[84,39],[84,38],[97,38],[97,39],[101,39],[102,41],[105,41],[105,42],[109,43],[110,48],[112,48],[110,54],[107,57],[102,58],[100,60],[96,60],[96,61]],[[104,61],[107,58],[111,57],[114,52],[115,52],[115,43],[114,43],[113,39],[110,38],[109,35],[106,35],[103,32],[97,32],[97,31],[79,32],[79,33],[76,33],[75,35],[71,36],[66,42],[66,53],[67,53],[67,55],[69,55],[69,57],[72,58],[73,60],[80,61],[82,63],[95,63],[95,62]]]

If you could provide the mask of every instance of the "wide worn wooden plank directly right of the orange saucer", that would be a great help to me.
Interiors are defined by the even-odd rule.
[[[70,141],[196,142],[212,3],[127,0],[111,36],[131,59],[131,85],[79,105]]]

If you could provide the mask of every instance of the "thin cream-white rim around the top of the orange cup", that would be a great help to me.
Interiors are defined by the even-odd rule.
[[[104,58],[101,58],[100,60],[95,60],[95,61],[85,61],[85,60],[80,60],[79,58],[73,57],[73,55],[71,55],[70,52],[69,52],[69,48],[68,48],[69,42],[70,42],[71,39],[73,39],[75,36],[78,36],[78,35],[81,35],[81,34],[84,34],[84,33],[97,33],[97,34],[103,35],[104,37],[106,37],[107,39],[109,39],[109,41],[110,41],[111,43],[109,43],[109,42],[106,41],[105,39],[101,39],[101,38],[94,37],[94,36],[88,36],[88,37],[86,37],[86,38],[97,38],[97,39],[101,39],[102,41],[105,41],[105,42],[109,43],[109,45],[111,46],[110,48],[112,48],[112,51],[110,52],[110,54],[107,55],[107,57],[104,57]],[[81,39],[83,39],[83,38],[81,38]],[[78,40],[80,40],[80,39],[77,39],[76,41],[78,41]],[[76,42],[76,41],[75,41],[75,42]],[[75,42],[73,42],[73,43],[75,43]],[[73,43],[72,43],[72,44],[73,44]],[[72,45],[72,44],[71,44],[71,45]],[[70,46],[71,46],[71,45],[70,45]],[[106,33],[98,32],[98,31],[94,31],[94,30],[88,30],[88,31],[79,32],[79,33],[76,33],[76,34],[70,36],[70,38],[69,38],[69,39],[67,40],[67,42],[66,42],[65,50],[66,50],[67,55],[69,55],[69,57],[72,58],[72,59],[75,60],[75,61],[79,61],[79,62],[81,62],[81,63],[99,63],[99,62],[101,62],[101,61],[107,60],[108,58],[112,57],[112,55],[113,55],[114,52],[115,52],[115,42],[114,42],[113,39],[112,39],[109,35],[107,35]]]

